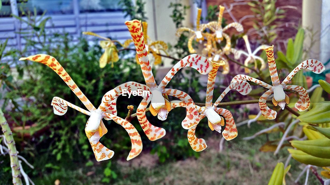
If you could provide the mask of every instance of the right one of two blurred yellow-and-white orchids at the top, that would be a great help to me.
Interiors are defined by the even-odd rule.
[[[223,38],[226,39],[227,44],[223,50],[228,55],[230,52],[230,45],[231,45],[230,37],[224,32],[231,27],[234,27],[238,32],[242,32],[243,26],[242,26],[242,24],[240,24],[238,22],[232,22],[232,23],[228,24],[227,26],[225,26],[224,28],[222,28],[221,24],[222,24],[222,15],[223,15],[224,9],[225,9],[225,7],[219,5],[218,21],[211,21],[211,22],[207,23],[206,28],[209,28],[212,32],[215,33],[215,40],[217,42],[220,43],[223,40]]]

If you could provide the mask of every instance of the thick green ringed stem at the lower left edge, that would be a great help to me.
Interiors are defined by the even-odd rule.
[[[10,166],[12,167],[13,184],[22,185],[20,164],[18,162],[18,157],[17,157],[18,152],[16,150],[15,141],[13,138],[13,132],[10,130],[10,127],[1,109],[0,109],[0,126],[2,128],[2,132],[5,136],[5,140],[8,145]]]

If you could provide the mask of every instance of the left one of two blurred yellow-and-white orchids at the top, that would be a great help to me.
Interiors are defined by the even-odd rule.
[[[176,32],[177,37],[180,37],[184,31],[194,34],[188,40],[189,53],[196,53],[196,50],[192,47],[192,41],[196,38],[197,42],[202,43],[202,41],[204,40],[204,37],[205,37],[205,34],[203,33],[203,31],[206,29],[206,24],[200,24],[201,13],[202,13],[202,9],[197,9],[196,31],[194,31],[190,28],[182,27],[182,28],[177,29],[177,32]]]

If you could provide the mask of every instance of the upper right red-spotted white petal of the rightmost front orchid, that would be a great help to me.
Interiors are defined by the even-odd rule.
[[[316,74],[320,74],[321,72],[324,71],[325,67],[320,61],[317,61],[315,59],[305,60],[287,75],[287,77],[283,80],[281,85],[284,86],[288,84],[289,81],[292,79],[292,77],[302,69],[309,69]]]

